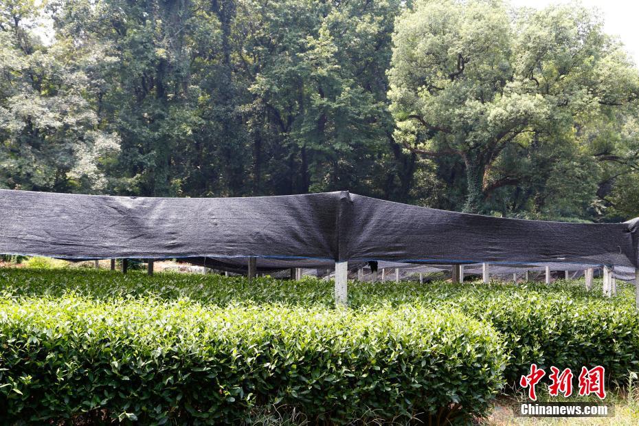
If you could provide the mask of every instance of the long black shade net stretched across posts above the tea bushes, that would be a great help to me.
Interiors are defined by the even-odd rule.
[[[496,218],[346,191],[188,199],[0,190],[0,253],[69,260],[193,258],[240,267],[256,257],[260,269],[345,260],[635,268],[637,223]]]

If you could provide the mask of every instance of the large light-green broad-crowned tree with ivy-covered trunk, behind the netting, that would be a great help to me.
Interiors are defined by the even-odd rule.
[[[579,124],[639,94],[627,54],[575,6],[513,12],[500,1],[422,0],[399,17],[393,42],[396,137],[416,153],[461,157],[469,212],[520,183],[522,151],[570,144]],[[515,147],[519,155],[505,152]]]

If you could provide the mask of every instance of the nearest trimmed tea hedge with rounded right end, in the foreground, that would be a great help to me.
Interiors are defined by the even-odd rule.
[[[142,424],[247,421],[283,406],[315,421],[486,412],[506,357],[454,310],[204,305],[5,296],[0,423],[106,410]]]

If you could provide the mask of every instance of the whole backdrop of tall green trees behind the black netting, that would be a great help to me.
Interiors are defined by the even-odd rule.
[[[6,0],[0,187],[619,220],[638,86],[579,5]]]

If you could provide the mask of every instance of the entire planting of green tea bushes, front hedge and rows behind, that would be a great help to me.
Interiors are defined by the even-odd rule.
[[[0,270],[0,423],[482,416],[530,363],[638,370],[631,289]],[[86,414],[85,414],[86,416]],[[86,420],[86,417],[83,418]]]

